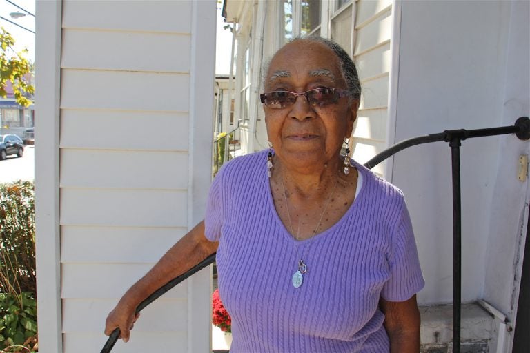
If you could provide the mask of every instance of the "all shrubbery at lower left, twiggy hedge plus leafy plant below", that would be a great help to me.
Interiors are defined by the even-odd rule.
[[[31,352],[37,341],[33,183],[0,185],[0,349]]]

